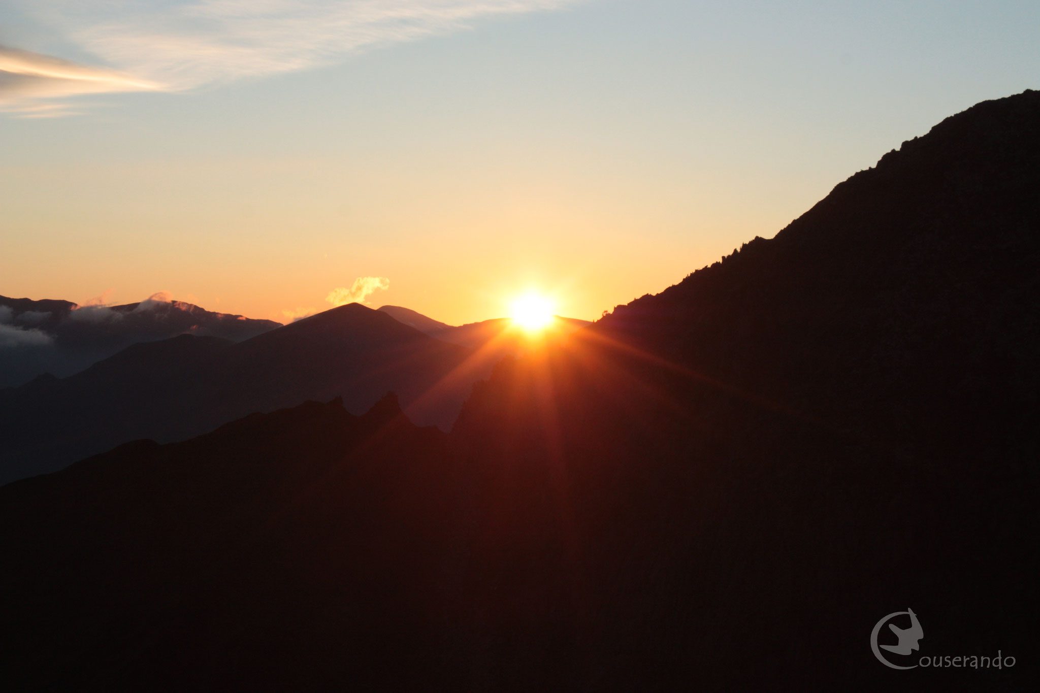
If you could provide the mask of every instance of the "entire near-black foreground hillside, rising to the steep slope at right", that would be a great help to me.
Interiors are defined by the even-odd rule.
[[[1037,190],[1040,94],[980,104],[775,239],[502,362],[450,434],[392,399],[311,403],[4,486],[3,670],[1034,690]],[[919,650],[890,661],[1015,665],[885,667],[872,629],[908,609]]]

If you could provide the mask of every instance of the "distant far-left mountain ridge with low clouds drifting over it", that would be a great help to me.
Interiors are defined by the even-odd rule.
[[[0,388],[21,385],[44,373],[72,375],[138,342],[182,334],[241,342],[280,326],[161,297],[79,306],[0,296]]]

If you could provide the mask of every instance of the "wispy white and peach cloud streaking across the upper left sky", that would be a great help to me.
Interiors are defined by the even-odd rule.
[[[482,17],[560,9],[589,0],[15,0],[83,50],[121,72],[9,51],[41,71],[15,75],[25,113],[40,99],[255,78],[335,63],[373,46],[464,30]],[[46,14],[45,14],[46,12]],[[50,61],[50,62],[48,62]],[[47,71],[41,65],[50,64]],[[129,77],[133,75],[134,77]],[[51,110],[55,110],[51,108]]]

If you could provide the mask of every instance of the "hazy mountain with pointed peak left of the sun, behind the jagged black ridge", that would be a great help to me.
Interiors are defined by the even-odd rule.
[[[308,399],[341,396],[362,411],[393,391],[416,421],[448,427],[477,377],[468,356],[358,303],[238,344],[193,335],[135,344],[68,378],[0,391],[0,480]]]

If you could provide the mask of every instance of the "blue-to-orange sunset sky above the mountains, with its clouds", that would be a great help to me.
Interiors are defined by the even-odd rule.
[[[1035,1],[4,0],[0,294],[595,319],[1040,88],[1038,35]]]

